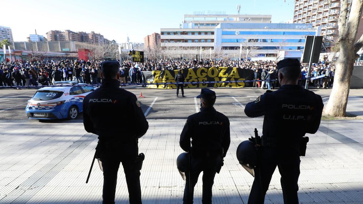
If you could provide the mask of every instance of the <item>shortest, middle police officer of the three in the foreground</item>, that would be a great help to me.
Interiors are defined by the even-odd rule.
[[[194,186],[202,171],[202,203],[212,203],[214,176],[216,172],[219,173],[231,143],[229,120],[213,107],[216,93],[210,89],[201,89],[197,98],[200,98],[200,112],[188,117],[180,135],[180,147],[189,152],[190,157],[190,169],[185,172],[183,204],[193,203]]]

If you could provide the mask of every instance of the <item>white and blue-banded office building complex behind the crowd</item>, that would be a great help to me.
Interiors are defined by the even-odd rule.
[[[242,46],[249,54],[247,56],[260,57],[261,60],[287,56],[300,58],[306,36],[320,35],[321,32],[307,24],[270,23],[271,16],[267,15],[253,15],[254,18],[244,17],[244,20],[241,19],[245,15],[228,16],[220,23],[217,20],[222,20],[218,19],[221,17],[215,17],[214,21],[208,19],[210,17],[187,21],[184,16],[180,28],[160,29],[161,48],[168,52],[178,53],[180,50],[179,53],[186,53],[185,50],[189,50],[196,54],[200,49],[204,53],[213,50],[229,58],[239,58]],[[249,23],[252,21],[258,23]]]

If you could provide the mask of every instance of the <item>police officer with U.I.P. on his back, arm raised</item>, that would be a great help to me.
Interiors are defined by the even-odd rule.
[[[298,85],[300,62],[277,63],[280,89],[265,93],[245,107],[248,117],[264,115],[262,148],[248,203],[264,203],[273,172],[278,167],[284,203],[298,203],[300,157],[305,156],[306,133],[318,131],[323,102],[320,95]]]

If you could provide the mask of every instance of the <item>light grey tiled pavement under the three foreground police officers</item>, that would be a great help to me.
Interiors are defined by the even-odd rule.
[[[79,121],[78,121],[79,122]],[[179,135],[184,120],[149,120],[139,140],[146,159],[141,171],[143,203],[182,203],[184,181],[175,164],[183,152]],[[213,203],[246,203],[253,182],[236,160],[238,144],[261,127],[261,119],[231,120],[231,147],[216,175]],[[261,128],[259,128],[261,129]],[[308,135],[301,158],[301,203],[363,203],[363,121],[322,121]],[[82,123],[0,121],[0,203],[101,203],[102,172],[95,163],[87,173],[97,136]],[[195,203],[201,203],[201,178]],[[129,203],[125,176],[119,170],[117,203]],[[280,175],[275,172],[265,203],[283,203]]]

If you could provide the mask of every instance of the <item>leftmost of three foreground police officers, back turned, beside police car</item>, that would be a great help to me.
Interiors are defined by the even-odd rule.
[[[130,203],[139,204],[138,138],[146,133],[148,122],[136,96],[119,88],[119,63],[104,61],[101,68],[102,86],[83,100],[83,124],[87,132],[98,135],[96,156],[102,161],[103,204],[114,203],[120,162],[126,176]]]

